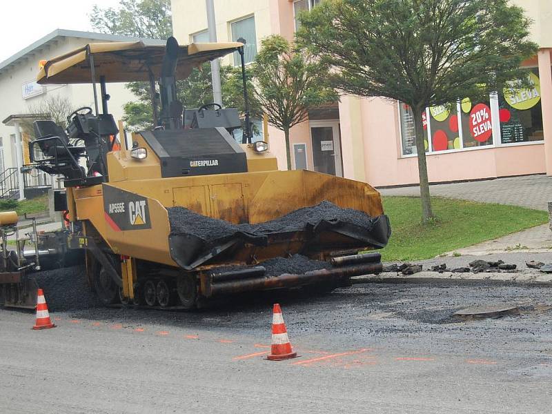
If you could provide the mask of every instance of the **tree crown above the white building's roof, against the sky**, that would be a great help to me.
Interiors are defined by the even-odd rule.
[[[120,0],[116,8],[95,5],[92,27],[102,33],[167,39],[172,36],[170,0]]]

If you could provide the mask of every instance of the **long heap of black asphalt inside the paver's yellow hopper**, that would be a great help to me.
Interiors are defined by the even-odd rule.
[[[322,221],[343,221],[367,230],[374,218],[352,208],[340,208],[330,201],[312,207],[299,208],[278,219],[259,224],[231,224],[228,221],[200,215],[184,207],[168,208],[170,231],[173,235],[194,235],[205,242],[230,239],[235,235],[264,237],[271,233],[287,233],[315,227]]]

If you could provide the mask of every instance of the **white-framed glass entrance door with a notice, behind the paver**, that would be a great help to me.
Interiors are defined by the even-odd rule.
[[[339,123],[311,121],[310,126],[313,141],[314,170],[342,177]]]

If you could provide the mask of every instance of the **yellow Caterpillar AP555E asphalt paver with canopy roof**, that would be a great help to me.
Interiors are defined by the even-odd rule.
[[[176,79],[231,52],[242,55],[245,83],[242,43],[174,38],[166,47],[90,43],[41,69],[40,84],[92,83],[95,108],[73,112],[66,130],[35,121],[30,154],[35,168],[63,176],[56,208],[104,304],[194,308],[249,290],[332,289],[381,270],[379,254],[357,254],[391,234],[374,188],[279,171],[268,144],[251,143],[247,110],[238,144],[237,110],[177,100]],[[150,83],[152,130],[126,136],[109,114],[106,84],[126,81]]]

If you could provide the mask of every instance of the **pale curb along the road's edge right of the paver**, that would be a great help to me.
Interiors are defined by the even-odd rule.
[[[552,274],[546,273],[452,273],[418,272],[414,275],[380,273],[351,277],[352,284],[363,283],[443,283],[443,282],[509,282],[517,284],[551,284]]]

